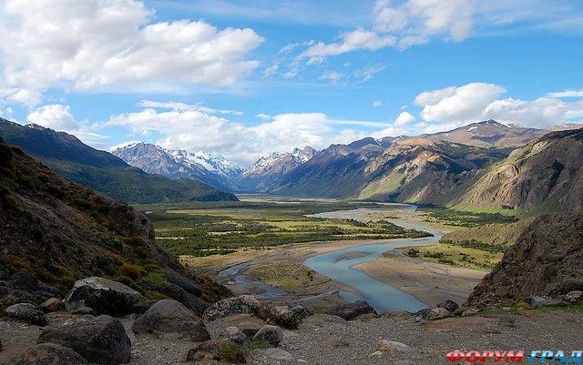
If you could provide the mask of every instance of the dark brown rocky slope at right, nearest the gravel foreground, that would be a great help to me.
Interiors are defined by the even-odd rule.
[[[583,213],[535,219],[502,261],[476,286],[466,305],[484,307],[583,289]]]

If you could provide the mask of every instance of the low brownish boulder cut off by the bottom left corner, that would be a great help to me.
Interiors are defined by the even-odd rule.
[[[29,348],[19,348],[0,354],[0,365],[86,365],[74,350],[56,343],[40,343]]]

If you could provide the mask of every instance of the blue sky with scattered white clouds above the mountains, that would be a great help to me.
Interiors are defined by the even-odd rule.
[[[510,3],[510,4],[508,4]],[[0,1],[0,115],[108,149],[583,123],[579,0]]]

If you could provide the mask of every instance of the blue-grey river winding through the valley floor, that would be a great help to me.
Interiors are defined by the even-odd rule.
[[[414,210],[416,207],[403,204],[386,204],[384,208],[357,208],[354,210],[338,210],[313,215],[317,218],[343,218],[359,221],[371,220],[370,215],[379,211],[387,212],[397,209]],[[391,220],[394,224],[404,228],[424,230],[433,237],[427,238],[403,238],[377,240],[373,244],[365,244],[353,248],[343,248],[337,251],[327,252],[303,261],[303,265],[310,269],[357,290],[377,312],[383,313],[392,310],[406,310],[414,312],[428,306],[415,299],[411,294],[396,289],[391,285],[373,279],[360,269],[353,269],[355,265],[378,259],[384,252],[407,246],[429,245],[439,242],[442,234],[434,228],[416,225],[401,220]]]

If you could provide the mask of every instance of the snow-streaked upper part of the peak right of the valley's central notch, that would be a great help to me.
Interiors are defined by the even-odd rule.
[[[258,159],[257,162],[243,172],[242,177],[285,174],[309,161],[315,153],[316,150],[312,147],[294,148],[292,152],[286,153],[273,152],[270,156]]]

